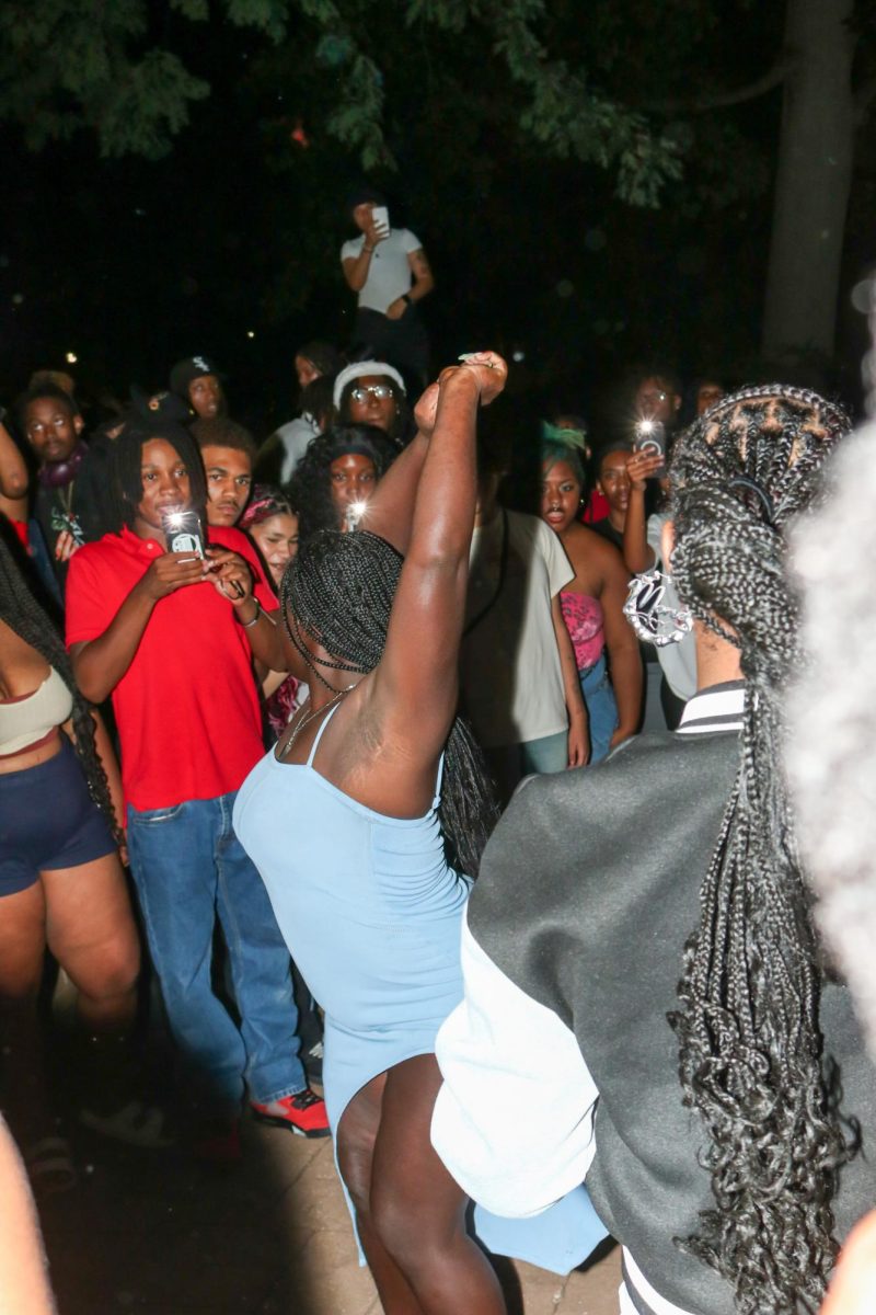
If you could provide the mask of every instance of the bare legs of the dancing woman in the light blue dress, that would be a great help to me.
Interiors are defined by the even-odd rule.
[[[386,1315],[504,1315],[499,1283],[466,1236],[468,1198],[429,1140],[433,1055],[362,1088],[338,1130],[338,1161]]]

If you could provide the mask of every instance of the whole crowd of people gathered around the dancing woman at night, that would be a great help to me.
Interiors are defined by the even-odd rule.
[[[355,199],[353,289],[389,263],[380,208]],[[244,1107],[332,1136],[389,1315],[502,1315],[489,1252],[565,1272],[608,1233],[624,1311],[816,1308],[876,1199],[876,1088],[781,765],[788,534],[850,422],[711,377],[683,429],[649,368],[629,442],[553,414],[510,481],[507,412],[479,423],[504,360],[416,381],[398,326],[432,276],[402,231],[410,300],[360,304],[385,355],[302,346],[261,443],[206,355],[91,429],[39,371],[0,425],[1,1080],[30,1184],[76,1184],[49,952],[77,1116],[219,1160]]]

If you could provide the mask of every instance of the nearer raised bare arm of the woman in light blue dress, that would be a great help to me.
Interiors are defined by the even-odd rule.
[[[500,356],[482,352],[439,380],[410,546],[372,688],[381,725],[420,761],[437,755],[456,714],[477,498],[477,410],[502,392],[506,375]]]

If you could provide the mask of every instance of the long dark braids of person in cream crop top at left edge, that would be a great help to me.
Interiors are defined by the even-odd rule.
[[[114,839],[121,844],[122,835],[116,823],[113,801],[109,794],[109,781],[95,742],[95,718],[91,705],[83,698],[74,677],[70,656],[55,623],[34,598],[26,576],[16,562],[12,551],[0,535],[0,617],[9,629],[30,644],[50,667],[54,667],[72,694],[74,747],[81,763],[88,793],[101,810]]]

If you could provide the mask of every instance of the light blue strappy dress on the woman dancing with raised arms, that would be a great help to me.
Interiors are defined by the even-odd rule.
[[[390,818],[317,772],[314,755],[336,711],[306,764],[280,763],[271,750],[234,807],[234,828],[326,1011],[323,1077],[334,1135],[366,1082],[435,1052],[439,1027],[462,998],[460,930],[470,889],[447,865],[437,797],[426,817]],[[580,1264],[605,1236],[583,1187],[529,1219],[500,1219],[475,1206],[474,1231],[490,1251],[557,1273]]]

